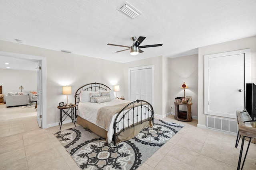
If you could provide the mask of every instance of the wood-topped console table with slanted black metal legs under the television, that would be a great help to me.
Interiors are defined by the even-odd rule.
[[[241,149],[240,149],[240,155],[239,155],[239,160],[238,160],[238,166],[237,166],[237,170],[240,169],[240,164],[241,164],[241,159],[242,159],[242,153],[243,153],[243,147],[244,147],[244,139],[245,137],[248,137],[249,143],[247,146],[247,150],[246,153],[244,155],[244,161],[248,152],[248,149],[250,147],[250,143],[252,138],[256,138],[256,127],[253,127],[253,122],[246,122],[244,123],[244,121],[250,121],[251,118],[249,116],[249,114],[247,112],[242,112],[241,111],[236,111],[236,116],[237,116],[237,123],[238,123],[238,133],[237,133],[237,138],[236,138],[236,146],[238,146],[239,140],[240,140],[240,136],[242,135],[242,145],[241,145]],[[243,169],[244,166],[244,161],[241,167],[241,170]]]

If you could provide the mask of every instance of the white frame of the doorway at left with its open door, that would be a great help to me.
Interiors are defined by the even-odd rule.
[[[0,56],[12,57],[14,59],[23,59],[26,61],[33,61],[36,63],[35,68],[37,68],[37,98],[39,100],[37,104],[37,121],[38,125],[42,128],[46,127],[46,58],[40,56],[23,55],[18,53],[8,53],[0,51]],[[40,71],[38,71],[40,69]]]

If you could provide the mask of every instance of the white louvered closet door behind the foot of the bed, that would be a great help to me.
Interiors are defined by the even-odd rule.
[[[146,100],[153,105],[152,68],[130,70],[130,100]]]

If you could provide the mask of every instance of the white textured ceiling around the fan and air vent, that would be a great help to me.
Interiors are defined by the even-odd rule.
[[[198,47],[256,35],[256,0],[128,0],[142,12],[130,19],[120,0],[1,0],[0,39],[126,63],[156,56],[198,53]],[[136,56],[108,43],[131,46],[145,36]]]

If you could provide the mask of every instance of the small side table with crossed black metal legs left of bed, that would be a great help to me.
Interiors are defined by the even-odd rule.
[[[61,126],[62,126],[62,122],[67,118],[67,117],[70,117],[71,120],[72,120],[72,123],[74,122],[74,125],[76,126],[75,124],[75,107],[76,105],[73,104],[72,106],[63,106],[63,107],[60,107],[58,106],[57,108],[60,109],[60,129],[61,129]],[[62,112],[64,113],[64,115],[62,115]],[[66,116],[63,120],[62,118]]]

